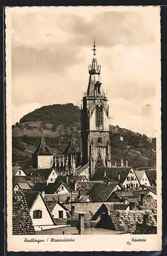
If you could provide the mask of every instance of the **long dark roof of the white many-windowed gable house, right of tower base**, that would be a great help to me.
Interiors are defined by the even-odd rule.
[[[131,167],[102,167],[98,168],[94,173],[92,180],[107,180],[111,182],[123,183],[129,174]],[[106,175],[104,177],[104,172]],[[120,180],[119,180],[120,177]]]

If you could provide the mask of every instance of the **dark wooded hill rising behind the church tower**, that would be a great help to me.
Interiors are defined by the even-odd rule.
[[[22,167],[31,166],[31,155],[40,141],[40,126],[43,122],[46,143],[54,152],[62,152],[70,140],[71,128],[80,145],[80,109],[71,103],[43,106],[20,119],[12,126],[12,157]],[[121,138],[122,137],[122,138]],[[121,138],[121,140],[120,140]],[[122,140],[123,139],[123,140]],[[133,167],[156,164],[156,140],[145,134],[110,125],[111,159]]]

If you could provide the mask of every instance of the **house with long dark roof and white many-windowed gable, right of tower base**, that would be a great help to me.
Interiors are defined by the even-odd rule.
[[[139,188],[140,183],[132,167],[98,168],[92,180],[110,180],[119,183],[123,188]]]

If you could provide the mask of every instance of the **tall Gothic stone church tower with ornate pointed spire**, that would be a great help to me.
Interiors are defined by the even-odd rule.
[[[81,107],[82,166],[89,163],[90,178],[98,167],[110,167],[109,105],[102,88],[101,66],[93,45],[93,59],[89,65],[89,83]]]

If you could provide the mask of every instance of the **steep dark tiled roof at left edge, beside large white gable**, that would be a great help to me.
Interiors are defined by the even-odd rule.
[[[23,191],[13,192],[12,233],[35,234],[29,208]]]

